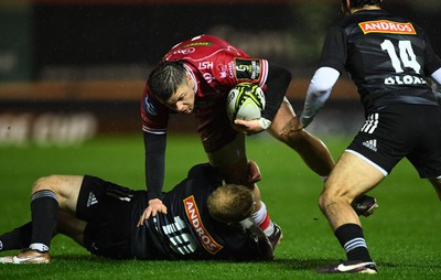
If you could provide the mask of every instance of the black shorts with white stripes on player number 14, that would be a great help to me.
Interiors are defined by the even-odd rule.
[[[347,150],[376,164],[385,175],[407,158],[421,177],[440,177],[441,108],[387,106],[368,116]]]

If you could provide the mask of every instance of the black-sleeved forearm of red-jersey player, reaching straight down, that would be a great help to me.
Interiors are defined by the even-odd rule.
[[[165,173],[165,134],[144,132],[146,184],[149,200],[162,200],[162,186]]]

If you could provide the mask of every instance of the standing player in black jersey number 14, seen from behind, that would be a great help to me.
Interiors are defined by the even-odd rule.
[[[343,0],[347,18],[326,36],[300,122],[306,127],[338,76],[357,86],[366,122],[337,161],[320,196],[347,261],[318,272],[376,273],[351,202],[407,158],[441,198],[441,108],[427,84],[441,83],[441,61],[422,29],[381,10],[381,0]]]

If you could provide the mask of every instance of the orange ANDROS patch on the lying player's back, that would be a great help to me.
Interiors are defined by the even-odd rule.
[[[198,239],[201,240],[202,246],[209,254],[215,255],[219,250],[222,250],[223,246],[217,244],[216,240],[209,235],[209,233],[205,229],[202,224],[200,211],[197,208],[194,196],[189,196],[184,200],[185,213],[189,217],[189,220],[192,224],[193,229],[196,231]]]

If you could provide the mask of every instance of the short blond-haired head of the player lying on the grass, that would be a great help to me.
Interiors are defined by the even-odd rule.
[[[254,211],[254,196],[244,185],[226,184],[217,187],[207,200],[209,215],[224,223],[239,223]]]

